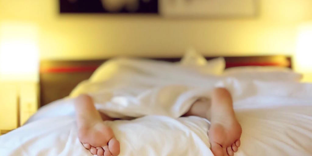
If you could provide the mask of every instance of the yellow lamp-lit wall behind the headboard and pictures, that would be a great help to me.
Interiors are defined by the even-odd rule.
[[[57,0],[0,0],[0,19],[33,22],[41,59],[292,54],[296,28],[312,20],[311,0],[259,0],[255,18],[163,19],[157,16],[60,15]]]

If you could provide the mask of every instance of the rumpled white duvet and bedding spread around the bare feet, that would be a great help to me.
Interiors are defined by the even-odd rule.
[[[116,59],[66,99],[41,108],[26,125],[0,137],[0,155],[91,155],[77,138],[73,97],[87,93],[121,145],[121,156],[209,156],[209,121],[180,117],[216,87],[230,90],[242,126],[237,156],[312,155],[312,85],[237,80],[165,62]]]

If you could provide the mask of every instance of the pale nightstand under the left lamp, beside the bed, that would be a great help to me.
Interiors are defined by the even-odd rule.
[[[37,82],[0,82],[1,134],[23,125],[38,109]]]

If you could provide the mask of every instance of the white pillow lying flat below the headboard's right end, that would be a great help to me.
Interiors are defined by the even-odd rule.
[[[300,81],[302,78],[300,73],[296,73],[289,68],[276,66],[232,67],[226,69],[222,76],[264,81]]]

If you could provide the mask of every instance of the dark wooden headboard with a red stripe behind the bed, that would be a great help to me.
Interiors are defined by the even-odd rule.
[[[207,60],[216,57],[207,57]],[[226,68],[236,66],[282,66],[292,67],[290,56],[239,56],[224,57]],[[176,62],[181,58],[149,58]],[[103,60],[42,60],[40,62],[40,106],[68,96],[83,80],[89,79]]]

